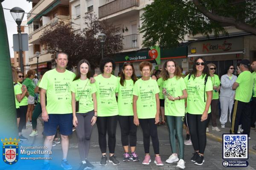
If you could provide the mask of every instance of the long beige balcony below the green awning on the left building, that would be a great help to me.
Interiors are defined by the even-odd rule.
[[[50,20],[48,23],[33,31],[31,34],[29,34],[29,44],[39,44],[40,36],[45,30],[45,28],[52,27],[60,21],[63,21],[64,23],[70,23],[70,16],[58,15],[52,20]]]

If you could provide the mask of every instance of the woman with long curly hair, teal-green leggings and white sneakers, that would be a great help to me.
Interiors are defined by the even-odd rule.
[[[178,168],[185,168],[184,139],[182,136],[183,121],[185,116],[185,101],[187,98],[186,85],[182,78],[181,70],[177,62],[168,60],[163,65],[163,94],[165,95],[165,115],[170,132],[172,155],[167,163],[177,162]],[[176,133],[175,133],[176,132]],[[178,139],[179,157],[176,152],[175,134]]]

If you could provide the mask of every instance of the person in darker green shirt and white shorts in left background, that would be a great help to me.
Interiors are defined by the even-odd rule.
[[[23,81],[23,85],[26,85],[28,88],[29,96],[28,96],[28,111],[26,113],[26,122],[30,122],[30,125],[32,124],[32,112],[34,110],[34,104],[35,104],[35,83],[32,79],[35,77],[35,71],[29,70],[26,74],[26,79]]]

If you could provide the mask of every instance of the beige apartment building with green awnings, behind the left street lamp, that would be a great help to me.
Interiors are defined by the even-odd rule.
[[[29,29],[29,65],[30,69],[37,68],[36,52],[38,58],[38,72],[43,69],[52,69],[52,58],[47,46],[40,44],[40,36],[44,30],[54,26],[60,21],[70,23],[69,0],[27,0],[32,3],[32,10],[27,14]]]

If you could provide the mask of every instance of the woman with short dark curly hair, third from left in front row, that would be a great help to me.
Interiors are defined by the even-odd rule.
[[[107,164],[107,141],[106,134],[108,132],[108,149],[109,149],[109,162],[114,165],[120,164],[115,156],[116,147],[116,125],[118,119],[118,106],[116,102],[117,92],[117,77],[112,75],[113,69],[116,65],[113,59],[103,58],[100,61],[99,68],[102,74],[94,77],[96,80],[96,97],[98,118],[97,127],[99,133],[99,147],[102,152],[102,158],[100,165],[105,166]]]

